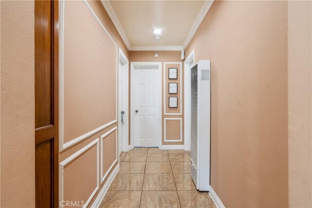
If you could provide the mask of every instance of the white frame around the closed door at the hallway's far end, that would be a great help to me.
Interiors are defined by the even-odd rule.
[[[134,123],[135,123],[135,109],[134,109],[134,72],[135,72],[135,68],[139,69],[139,68],[144,68],[144,69],[157,69],[158,70],[158,81],[159,81],[159,117],[158,117],[158,122],[159,122],[159,132],[158,132],[158,147],[161,147],[161,140],[162,140],[162,79],[161,79],[161,75],[162,75],[162,68],[161,68],[161,65],[162,63],[161,62],[131,62],[130,63],[131,65],[131,81],[130,81],[130,89],[131,89],[131,92],[130,92],[130,100],[131,100],[131,103],[130,103],[130,132],[131,132],[131,137],[130,137],[130,145],[129,145],[129,150],[130,149],[133,149],[134,148]]]

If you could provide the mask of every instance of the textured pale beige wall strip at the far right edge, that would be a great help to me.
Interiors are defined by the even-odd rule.
[[[311,1],[288,2],[289,206],[312,207]]]

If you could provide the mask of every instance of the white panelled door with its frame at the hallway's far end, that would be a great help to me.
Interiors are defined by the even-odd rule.
[[[161,142],[161,62],[131,62],[131,148]]]

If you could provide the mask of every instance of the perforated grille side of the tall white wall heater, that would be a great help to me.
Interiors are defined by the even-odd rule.
[[[192,179],[197,188],[197,64],[191,69],[191,161]]]

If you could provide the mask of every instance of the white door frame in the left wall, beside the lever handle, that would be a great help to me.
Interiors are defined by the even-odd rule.
[[[125,111],[125,122],[122,128],[122,151],[129,151],[129,60],[126,55],[123,53],[121,48],[118,48],[118,71],[119,71],[119,63],[122,65],[122,108]],[[119,73],[117,73],[118,75]],[[117,79],[118,80],[118,79]],[[118,86],[119,89],[120,86]],[[117,90],[117,94],[119,94],[119,90]],[[118,99],[119,95],[117,95]],[[118,106],[120,100],[117,103],[117,119],[118,119]],[[118,122],[118,128],[120,128],[122,124]],[[118,132],[118,131],[117,131]],[[119,135],[117,135],[117,141],[119,141]],[[119,144],[117,147],[119,150]],[[119,155],[119,152],[118,152]]]

